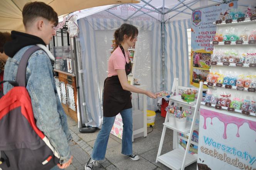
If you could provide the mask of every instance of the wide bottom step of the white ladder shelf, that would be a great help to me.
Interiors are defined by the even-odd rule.
[[[163,165],[171,168],[172,170],[180,170],[182,161],[185,155],[185,150],[181,148],[177,148],[168,153],[165,153],[159,157],[157,157],[157,161],[163,163]],[[194,156],[190,153],[187,154],[185,160],[185,167],[197,161],[197,156]]]

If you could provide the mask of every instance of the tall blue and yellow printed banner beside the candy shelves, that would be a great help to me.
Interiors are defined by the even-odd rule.
[[[237,1],[205,7],[192,12],[191,19],[191,69],[190,84],[199,87],[200,81],[206,81],[210,69],[213,45],[210,42],[216,34],[213,24],[221,12],[237,7]],[[205,88],[207,88],[205,86]]]

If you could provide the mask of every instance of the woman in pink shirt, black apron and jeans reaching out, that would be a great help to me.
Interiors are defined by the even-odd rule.
[[[108,77],[104,82],[103,93],[103,125],[94,143],[91,158],[85,165],[86,170],[92,170],[97,160],[104,160],[109,133],[118,113],[123,119],[122,151],[123,155],[132,160],[139,160],[132,151],[133,118],[131,92],[146,94],[150,98],[156,96],[150,92],[128,84],[127,75],[131,72],[131,61],[128,48],[135,45],[138,29],[130,24],[122,24],[115,31],[116,47],[108,61]]]

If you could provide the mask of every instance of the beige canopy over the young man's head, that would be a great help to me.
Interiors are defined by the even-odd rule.
[[[35,0],[32,0],[35,1]],[[50,5],[63,15],[77,10],[122,3],[138,3],[140,0],[38,0]],[[0,0],[0,31],[24,31],[22,24],[22,8],[31,0]]]

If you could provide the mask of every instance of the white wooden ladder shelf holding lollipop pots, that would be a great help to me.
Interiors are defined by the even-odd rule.
[[[190,154],[189,153],[189,146],[190,143],[196,144],[194,141],[191,141],[192,139],[192,134],[193,131],[198,129],[197,126],[195,126],[195,120],[197,117],[197,114],[199,113],[199,107],[200,107],[200,101],[202,99],[202,89],[203,89],[203,82],[200,82],[199,90],[198,90],[198,95],[197,95],[197,100],[194,102],[187,103],[181,99],[181,96],[179,95],[179,89],[189,89],[187,87],[179,86],[179,79],[175,78],[173,81],[173,86],[172,86],[172,96],[170,97],[170,101],[177,103],[177,104],[182,104],[185,106],[190,106],[191,108],[194,109],[194,115],[192,122],[187,121],[186,128],[184,130],[179,130],[176,128],[175,125],[171,124],[169,120],[169,113],[167,112],[166,117],[165,117],[165,123],[163,123],[163,132],[157,152],[157,159],[156,162],[161,162],[163,165],[171,168],[172,170],[184,170],[185,167],[188,165],[194,163],[197,161],[197,154]],[[174,91],[176,91],[176,95],[174,96]],[[169,102],[169,105],[172,104],[172,102]],[[163,155],[161,154],[162,151],[162,146],[163,146],[163,140],[165,137],[165,131],[166,128],[172,129],[173,130],[173,150],[169,151]],[[186,149],[179,148],[179,134],[182,133],[184,135],[189,136],[188,139],[182,137],[183,140],[187,140],[187,146]],[[181,138],[181,136],[180,136]]]

